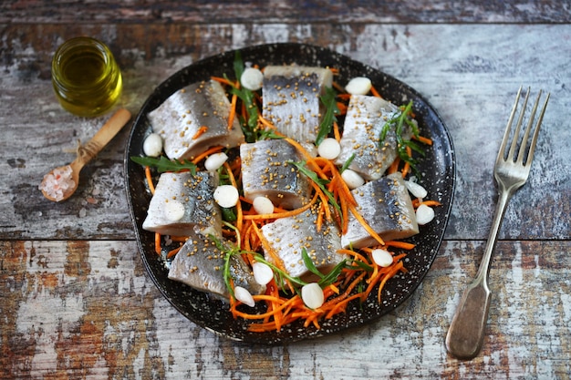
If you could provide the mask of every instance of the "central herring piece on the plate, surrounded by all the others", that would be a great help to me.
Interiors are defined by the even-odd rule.
[[[242,187],[244,197],[254,200],[264,196],[276,206],[292,210],[309,198],[311,186],[287,161],[299,159],[299,154],[284,139],[260,140],[240,146]]]

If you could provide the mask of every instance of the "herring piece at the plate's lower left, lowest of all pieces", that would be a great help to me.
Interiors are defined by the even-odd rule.
[[[219,238],[224,241],[223,238]],[[194,289],[228,299],[230,293],[224,282],[224,256],[207,235],[192,231],[181,250],[171,262],[169,278],[186,283]],[[254,274],[241,256],[230,258],[230,274],[234,286],[242,286],[252,294],[265,292],[265,286],[254,281]]]

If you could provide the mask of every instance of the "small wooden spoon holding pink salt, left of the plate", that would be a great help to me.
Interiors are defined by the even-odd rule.
[[[42,190],[44,197],[48,200],[62,201],[67,200],[77,189],[79,184],[79,172],[83,167],[105,147],[111,139],[117,135],[119,130],[123,128],[130,120],[130,112],[125,108],[120,108],[109,120],[101,127],[98,132],[88,141],[87,144],[78,148],[78,158],[74,159],[69,165],[62,166],[51,170],[44,176],[39,189]],[[71,172],[69,173],[69,168]],[[68,173],[62,175],[61,173]],[[61,177],[67,177],[63,179]],[[62,182],[67,185],[60,186]],[[57,189],[63,189],[63,193]]]

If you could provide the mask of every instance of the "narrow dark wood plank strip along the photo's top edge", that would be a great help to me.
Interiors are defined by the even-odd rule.
[[[0,23],[560,23],[569,4],[555,0],[367,1],[98,1],[0,4]]]

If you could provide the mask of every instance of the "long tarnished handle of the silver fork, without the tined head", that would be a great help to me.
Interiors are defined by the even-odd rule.
[[[500,231],[504,219],[504,212],[513,192],[513,189],[500,190],[500,198],[496,204],[492,228],[480,268],[476,278],[462,293],[458,309],[452,318],[452,324],[446,335],[446,349],[459,359],[472,359],[482,348],[483,335],[490,310],[491,292],[487,283],[489,266],[498,231]]]

